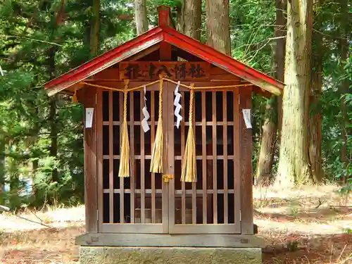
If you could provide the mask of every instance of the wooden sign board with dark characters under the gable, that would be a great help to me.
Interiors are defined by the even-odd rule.
[[[130,61],[120,63],[120,80],[158,80],[159,74],[172,80],[209,80],[210,63],[189,61]]]

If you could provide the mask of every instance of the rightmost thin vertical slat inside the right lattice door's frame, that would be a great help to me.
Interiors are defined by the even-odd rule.
[[[227,92],[222,92],[222,116],[224,125],[222,126],[222,141],[224,146],[224,223],[229,222],[229,210],[228,210],[228,186],[227,186]]]

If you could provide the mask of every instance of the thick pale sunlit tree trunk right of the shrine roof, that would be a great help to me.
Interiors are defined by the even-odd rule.
[[[282,136],[275,184],[293,187],[310,180],[308,95],[313,0],[287,3],[287,42],[282,99]]]

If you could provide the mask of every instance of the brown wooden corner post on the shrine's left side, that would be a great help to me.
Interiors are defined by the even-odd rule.
[[[94,108],[92,128],[84,128],[84,201],[86,213],[86,232],[98,232],[98,197],[96,194],[96,89],[86,89],[82,94],[84,108]],[[85,120],[85,119],[84,119]]]

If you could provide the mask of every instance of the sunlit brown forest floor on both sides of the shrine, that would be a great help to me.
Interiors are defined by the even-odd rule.
[[[254,190],[255,223],[265,239],[264,264],[351,264],[352,197],[334,186]],[[84,208],[49,208],[22,216],[0,214],[0,264],[77,263],[75,237],[84,233]]]

